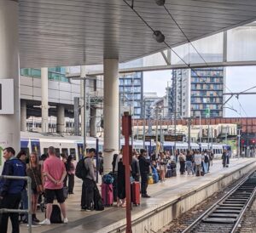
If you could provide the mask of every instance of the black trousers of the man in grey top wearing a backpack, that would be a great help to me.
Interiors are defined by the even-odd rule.
[[[95,183],[92,179],[84,179],[82,186],[81,207],[92,209]]]

